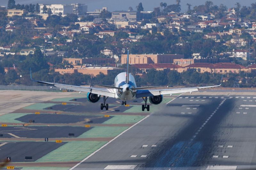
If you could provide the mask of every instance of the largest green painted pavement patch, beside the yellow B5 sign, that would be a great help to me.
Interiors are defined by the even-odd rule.
[[[107,141],[72,141],[46,154],[36,162],[81,161]]]

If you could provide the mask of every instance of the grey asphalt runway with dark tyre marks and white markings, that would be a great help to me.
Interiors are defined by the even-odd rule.
[[[255,169],[255,107],[254,96],[178,97],[75,169]]]

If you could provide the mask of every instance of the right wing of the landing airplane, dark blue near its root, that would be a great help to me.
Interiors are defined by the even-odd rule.
[[[184,93],[184,92],[197,92],[199,89],[219,87],[220,85],[203,86],[203,87],[192,87],[192,88],[180,88],[180,89],[138,90],[137,94],[136,94],[136,98],[158,96],[158,95],[163,95],[163,94],[174,94],[174,93]]]

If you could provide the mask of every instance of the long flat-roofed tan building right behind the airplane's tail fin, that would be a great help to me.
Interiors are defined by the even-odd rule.
[[[173,63],[174,59],[184,58],[180,54],[130,54],[129,64]],[[127,55],[121,56],[121,63],[127,63]]]

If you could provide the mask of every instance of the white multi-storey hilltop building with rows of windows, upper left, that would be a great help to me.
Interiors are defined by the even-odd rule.
[[[40,14],[43,14],[43,7],[44,4],[39,4],[40,6]],[[66,15],[73,13],[73,5],[62,5],[62,4],[51,4],[51,5],[45,5],[46,8],[51,8],[53,15]]]

